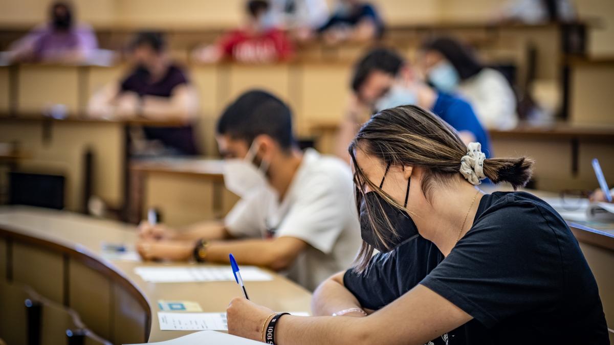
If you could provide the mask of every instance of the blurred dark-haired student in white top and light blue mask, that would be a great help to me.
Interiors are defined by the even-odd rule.
[[[421,65],[435,88],[467,99],[486,128],[516,127],[516,95],[501,72],[485,67],[468,47],[448,37],[427,42],[423,51]]]

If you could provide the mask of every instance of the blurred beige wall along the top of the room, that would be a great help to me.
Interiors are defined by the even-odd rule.
[[[0,0],[0,26],[41,23],[52,0]],[[241,21],[244,0],[73,0],[79,18],[95,26],[224,28]],[[327,0],[333,4],[334,0]],[[391,25],[488,21],[505,0],[372,0]],[[575,0],[581,18],[597,18],[589,51],[614,54],[614,1]]]

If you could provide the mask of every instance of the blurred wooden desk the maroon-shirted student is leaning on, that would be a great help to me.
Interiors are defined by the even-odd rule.
[[[61,171],[67,177],[66,208],[87,212],[90,195],[111,207],[128,207],[128,160],[133,126],[181,126],[179,121],[101,120],[70,116],[64,119],[40,113],[17,117],[0,114],[0,138],[18,142],[31,157],[23,169]]]

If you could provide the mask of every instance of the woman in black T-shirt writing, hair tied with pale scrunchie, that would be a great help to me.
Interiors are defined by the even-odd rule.
[[[416,106],[374,115],[349,152],[356,266],[314,292],[317,317],[275,318],[273,343],[609,343],[596,281],[561,216],[529,193],[476,187],[486,177],[522,187],[533,161],[486,159]],[[260,339],[270,313],[235,298],[228,331]]]

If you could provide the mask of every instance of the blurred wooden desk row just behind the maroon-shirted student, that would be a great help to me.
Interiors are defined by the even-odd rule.
[[[341,120],[349,98],[352,64],[367,48],[367,45],[357,47],[356,56],[343,61],[309,58],[276,64],[186,62],[188,77],[200,99],[198,144],[202,152],[215,153],[211,127],[217,115],[231,99],[249,88],[265,88],[287,101],[295,112],[297,132],[303,136],[309,135],[310,128],[321,122]],[[418,45],[408,56],[414,55],[417,49]],[[539,54],[549,56],[547,52]],[[608,97],[609,82],[614,77],[614,58],[562,58],[564,65],[559,65],[559,60],[548,60],[543,61],[543,66],[523,56],[491,57],[487,61],[505,72],[510,83],[517,85],[519,95],[530,96],[549,116],[540,120],[524,119],[527,122],[614,125],[610,115],[614,100]],[[22,117],[54,112],[60,112],[60,117],[85,115],[91,95],[104,85],[120,80],[127,72],[126,67],[124,63],[0,66],[0,115]]]

